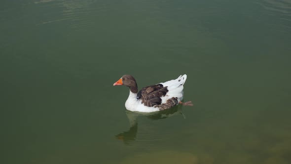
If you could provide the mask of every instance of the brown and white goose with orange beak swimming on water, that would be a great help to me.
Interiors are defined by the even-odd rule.
[[[131,75],[123,75],[115,85],[129,87],[129,96],[125,102],[125,108],[133,112],[156,112],[170,109],[182,104],[193,106],[191,101],[182,103],[183,85],[187,75],[181,75],[175,80],[160,82],[154,85],[143,87],[138,91],[136,80]]]

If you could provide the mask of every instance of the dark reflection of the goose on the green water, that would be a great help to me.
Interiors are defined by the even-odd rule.
[[[173,116],[181,116],[185,119],[184,114],[182,113],[182,105],[178,105],[171,109],[164,111],[152,112],[152,113],[142,113],[142,112],[131,112],[126,110],[125,114],[129,120],[130,128],[127,131],[115,135],[115,138],[122,140],[124,144],[130,144],[135,141],[138,133],[138,117],[146,117],[150,120],[161,120],[167,119]]]

